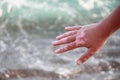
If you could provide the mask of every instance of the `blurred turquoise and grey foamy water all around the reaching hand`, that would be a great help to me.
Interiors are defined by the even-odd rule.
[[[120,31],[82,65],[86,48],[56,55],[64,27],[96,23],[120,0],[0,0],[0,80],[119,80]]]

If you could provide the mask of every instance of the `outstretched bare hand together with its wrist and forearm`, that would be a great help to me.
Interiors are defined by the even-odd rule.
[[[102,21],[84,26],[65,27],[66,33],[56,37],[53,46],[64,45],[55,52],[60,54],[75,48],[86,47],[88,50],[77,60],[82,64],[92,57],[106,43],[110,35],[120,28],[120,6]]]

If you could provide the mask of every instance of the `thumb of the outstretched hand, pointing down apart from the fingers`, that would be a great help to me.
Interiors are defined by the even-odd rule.
[[[80,65],[80,64],[84,63],[90,57],[92,57],[95,53],[96,53],[96,50],[93,50],[93,49],[89,48],[87,52],[85,52],[84,54],[82,54],[80,56],[80,58],[77,60],[77,64]]]

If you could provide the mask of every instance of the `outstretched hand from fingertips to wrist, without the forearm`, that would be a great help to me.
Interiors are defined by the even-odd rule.
[[[93,56],[106,42],[104,30],[99,29],[100,25],[91,24],[85,26],[65,27],[66,33],[56,37],[54,46],[65,44],[64,47],[57,49],[56,53],[63,53],[79,47],[86,47],[88,50],[77,60],[77,64],[82,64]]]

